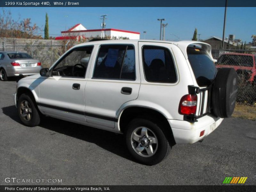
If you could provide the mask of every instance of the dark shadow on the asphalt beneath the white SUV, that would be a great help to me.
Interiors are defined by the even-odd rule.
[[[17,114],[17,108],[14,105],[4,107],[2,108],[2,111],[4,115],[9,116],[12,120],[22,124]],[[24,125],[22,124],[22,126]],[[52,117],[44,117],[39,127],[43,127],[54,132],[59,132],[76,139],[95,143],[99,147],[104,148],[111,153],[134,161],[126,148],[124,135],[71,123]]]

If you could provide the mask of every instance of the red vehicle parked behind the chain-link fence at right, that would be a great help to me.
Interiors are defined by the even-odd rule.
[[[246,80],[256,83],[256,55],[247,53],[224,53],[216,62],[217,68],[234,68],[238,75],[246,75]]]

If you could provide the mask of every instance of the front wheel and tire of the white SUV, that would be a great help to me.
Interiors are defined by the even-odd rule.
[[[17,108],[20,120],[26,126],[34,127],[40,123],[39,112],[29,94],[20,95]]]

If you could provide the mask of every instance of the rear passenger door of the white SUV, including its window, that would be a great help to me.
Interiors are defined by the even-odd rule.
[[[102,44],[85,86],[86,121],[114,128],[116,112],[139,94],[138,44]]]

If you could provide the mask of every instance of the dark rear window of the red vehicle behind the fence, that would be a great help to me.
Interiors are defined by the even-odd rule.
[[[224,54],[218,59],[217,65],[253,67],[253,57],[249,55]]]

